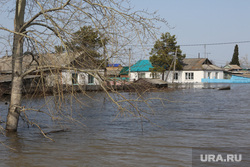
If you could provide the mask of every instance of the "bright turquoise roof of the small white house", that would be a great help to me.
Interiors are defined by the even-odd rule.
[[[139,60],[131,68],[131,72],[147,72],[154,68],[149,60]]]

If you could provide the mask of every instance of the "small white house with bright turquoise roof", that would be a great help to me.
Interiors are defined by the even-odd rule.
[[[130,67],[130,81],[136,81],[140,78],[159,78],[159,73],[152,73],[154,68],[149,60],[139,60]]]

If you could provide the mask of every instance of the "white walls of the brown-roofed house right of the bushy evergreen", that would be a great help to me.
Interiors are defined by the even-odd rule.
[[[176,71],[175,76],[173,76],[173,71],[165,72],[165,80],[168,75],[167,82],[175,83],[201,83],[201,79],[210,78],[210,79],[223,79],[223,71]],[[173,80],[174,77],[174,80]]]

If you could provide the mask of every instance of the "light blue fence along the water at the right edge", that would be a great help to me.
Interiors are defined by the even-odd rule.
[[[250,78],[232,75],[231,79],[201,79],[203,83],[250,83]]]

